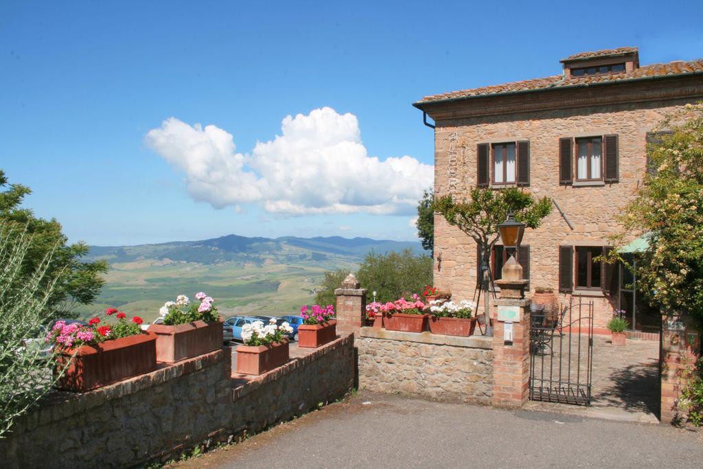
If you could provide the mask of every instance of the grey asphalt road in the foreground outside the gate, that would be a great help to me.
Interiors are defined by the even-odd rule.
[[[682,468],[702,461],[703,432],[361,392],[177,467]]]

